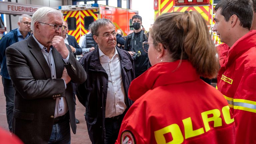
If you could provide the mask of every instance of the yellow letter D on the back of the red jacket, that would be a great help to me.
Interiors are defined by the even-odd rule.
[[[164,138],[164,134],[171,133],[172,141],[167,142]],[[158,144],[180,144],[184,141],[183,135],[181,133],[180,127],[177,124],[171,124],[160,130],[154,132],[156,143]]]

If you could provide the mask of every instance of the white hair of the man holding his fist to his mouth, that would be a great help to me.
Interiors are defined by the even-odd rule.
[[[32,15],[30,29],[34,31],[35,22],[47,23],[47,21],[49,20],[49,14],[60,15],[61,17],[63,17],[63,14],[54,8],[41,7],[38,10],[36,10],[36,12]]]

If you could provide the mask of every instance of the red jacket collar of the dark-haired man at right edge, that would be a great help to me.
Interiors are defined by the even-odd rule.
[[[256,46],[256,30],[251,30],[243,37],[238,39],[229,49],[227,60],[224,62],[224,66],[227,66],[229,62],[233,63],[241,53],[254,46]]]

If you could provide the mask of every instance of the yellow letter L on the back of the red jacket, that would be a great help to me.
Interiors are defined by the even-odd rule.
[[[193,130],[191,117],[182,120],[184,125],[185,139],[198,136],[204,133],[204,128]]]

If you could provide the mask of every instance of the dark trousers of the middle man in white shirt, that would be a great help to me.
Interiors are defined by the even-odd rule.
[[[126,111],[119,115],[112,118],[105,118],[105,130],[106,130],[106,137],[104,144],[114,144],[117,140],[118,133],[124,118]]]

